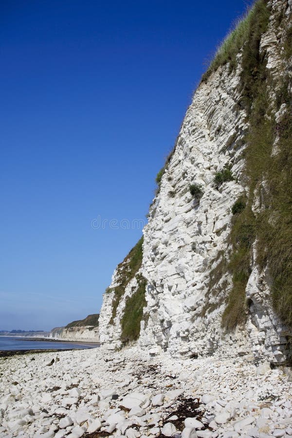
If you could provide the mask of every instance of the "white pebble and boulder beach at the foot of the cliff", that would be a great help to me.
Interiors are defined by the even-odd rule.
[[[137,347],[0,359],[0,437],[292,436],[292,376],[251,358]]]

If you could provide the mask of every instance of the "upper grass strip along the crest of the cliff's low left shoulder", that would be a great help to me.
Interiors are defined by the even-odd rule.
[[[114,323],[114,318],[117,314],[117,308],[121,301],[122,296],[125,293],[128,282],[134,278],[135,274],[139,271],[142,264],[143,257],[143,237],[136,243],[131,249],[128,256],[125,257],[122,263],[117,267],[117,280],[119,285],[113,289],[108,288],[107,291],[114,291],[114,297],[112,300],[112,312],[110,318],[110,324]]]

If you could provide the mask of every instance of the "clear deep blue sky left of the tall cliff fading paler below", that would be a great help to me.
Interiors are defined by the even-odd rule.
[[[142,233],[91,221],[145,219],[206,61],[246,5],[1,1],[0,329],[100,310]]]

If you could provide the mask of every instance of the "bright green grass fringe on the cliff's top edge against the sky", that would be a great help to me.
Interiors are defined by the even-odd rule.
[[[258,0],[245,16],[238,20],[234,29],[225,37],[219,46],[207,71],[202,75],[201,82],[208,79],[211,73],[215,72],[220,66],[229,62],[230,71],[237,67],[237,55],[246,44],[251,31],[253,30],[254,20],[263,22],[267,16],[266,0]]]

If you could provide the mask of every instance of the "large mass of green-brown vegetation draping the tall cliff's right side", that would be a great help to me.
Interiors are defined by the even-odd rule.
[[[249,190],[247,199],[238,200],[233,207],[229,240],[232,249],[226,264],[233,276],[233,287],[222,315],[222,326],[229,330],[246,319],[245,288],[251,274],[253,245],[256,262],[261,269],[267,269],[274,310],[284,323],[292,325],[292,96],[288,67],[285,66],[292,54],[292,28],[284,34],[283,74],[277,78],[278,87],[275,89],[266,69],[266,53],[259,50],[269,17],[267,1],[257,1],[249,15],[223,43],[202,78],[205,80],[219,65],[227,62],[230,62],[232,71],[237,53],[242,52],[238,91],[240,105],[247,110],[250,125],[245,138]],[[284,19],[279,17],[278,24]],[[275,102],[269,87],[274,89]],[[275,113],[283,109],[283,104],[286,106],[284,115],[276,122]],[[255,200],[260,202],[260,208],[254,213],[252,205]]]

